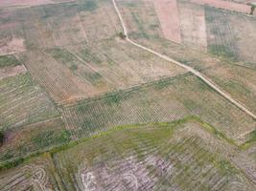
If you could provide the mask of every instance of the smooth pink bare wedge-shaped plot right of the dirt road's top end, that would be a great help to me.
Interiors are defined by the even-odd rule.
[[[171,41],[181,43],[176,0],[153,1],[153,5],[160,20],[164,36]]]

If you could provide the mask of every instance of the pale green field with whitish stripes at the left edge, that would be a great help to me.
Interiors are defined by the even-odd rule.
[[[30,74],[0,80],[1,130],[56,116],[58,111],[54,104]]]

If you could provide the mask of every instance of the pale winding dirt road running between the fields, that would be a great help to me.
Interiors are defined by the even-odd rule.
[[[147,52],[149,52],[149,53],[153,53],[153,54],[155,54],[155,55],[157,55],[157,56],[159,56],[159,57],[161,57],[161,58],[163,58],[163,59],[165,59],[165,60],[167,60],[167,61],[170,61],[170,62],[172,62],[172,63],[175,63],[176,65],[178,65],[178,66],[180,66],[180,67],[182,67],[182,68],[188,70],[188,71],[191,72],[192,74],[197,75],[198,78],[200,78],[201,80],[203,80],[206,84],[208,84],[212,89],[214,89],[216,92],[218,92],[221,96],[225,97],[228,101],[230,101],[231,103],[233,103],[234,105],[236,105],[239,109],[241,109],[242,111],[244,111],[244,113],[246,113],[248,116],[250,116],[250,117],[252,117],[252,118],[254,118],[254,119],[256,120],[256,116],[255,116],[252,112],[250,112],[242,103],[239,103],[238,101],[236,101],[235,99],[233,99],[229,94],[227,94],[227,93],[225,93],[224,91],[222,91],[221,88],[218,87],[218,85],[216,85],[211,79],[209,79],[209,78],[208,78],[207,76],[205,76],[204,74],[199,73],[199,72],[198,72],[197,70],[195,70],[194,68],[192,68],[192,67],[190,67],[190,66],[187,66],[187,65],[184,65],[184,64],[182,64],[182,63],[176,61],[175,59],[173,59],[173,58],[171,58],[171,57],[168,57],[167,55],[164,55],[164,54],[162,54],[162,53],[157,53],[157,52],[155,52],[155,51],[153,51],[153,50],[151,50],[151,49],[149,49],[149,48],[147,48],[147,47],[144,47],[144,46],[142,46],[142,45],[140,45],[140,44],[138,44],[138,43],[136,43],[136,42],[130,40],[129,37],[128,37],[128,30],[127,30],[126,24],[125,24],[125,22],[124,22],[124,20],[123,20],[123,17],[122,17],[122,15],[121,15],[121,13],[120,13],[118,7],[117,7],[116,0],[112,0],[112,3],[113,3],[113,6],[114,6],[114,9],[115,9],[116,13],[118,14],[118,17],[119,17],[119,19],[120,19],[120,22],[121,22],[121,24],[122,24],[123,31],[124,31],[124,33],[125,33],[125,35],[126,35],[126,40],[127,40],[130,44],[132,44],[132,45],[134,45],[134,46],[136,46],[136,47],[138,47],[138,48],[141,48],[141,49],[143,49],[143,50],[145,50],[145,51],[147,51]]]

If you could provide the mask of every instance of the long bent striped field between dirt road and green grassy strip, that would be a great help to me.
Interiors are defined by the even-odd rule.
[[[63,107],[61,113],[72,135],[78,138],[118,125],[172,121],[194,115],[227,137],[243,142],[240,135],[252,131],[256,124],[190,74]]]

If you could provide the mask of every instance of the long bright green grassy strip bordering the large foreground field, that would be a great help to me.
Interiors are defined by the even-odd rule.
[[[60,151],[72,148],[82,142],[90,140],[91,138],[105,137],[106,135],[112,134],[112,133],[120,131],[120,130],[145,128],[150,125],[158,126],[159,128],[175,128],[175,127],[178,127],[179,125],[185,124],[187,122],[197,122],[204,130],[208,131],[209,133],[213,134],[214,136],[221,138],[232,145],[239,146],[233,139],[227,138],[219,130],[217,130],[215,127],[211,126],[210,124],[202,121],[199,117],[189,116],[189,117],[184,117],[184,118],[177,119],[177,120],[174,120],[171,122],[152,122],[152,123],[128,124],[128,125],[117,126],[117,127],[114,127],[112,129],[109,129],[105,132],[102,132],[100,134],[97,134],[97,135],[94,135],[91,137],[81,138],[79,140],[70,141],[70,142],[67,142],[67,143],[64,143],[64,144],[61,144],[58,146],[53,146],[53,147],[48,148],[43,151],[37,151],[37,152],[31,153],[25,157],[11,159],[6,162],[0,163],[0,170],[12,168],[14,166],[17,166],[18,164],[29,161],[30,159],[38,157],[45,153],[47,153],[47,155],[50,154],[51,156],[53,156],[54,154],[56,154]]]

